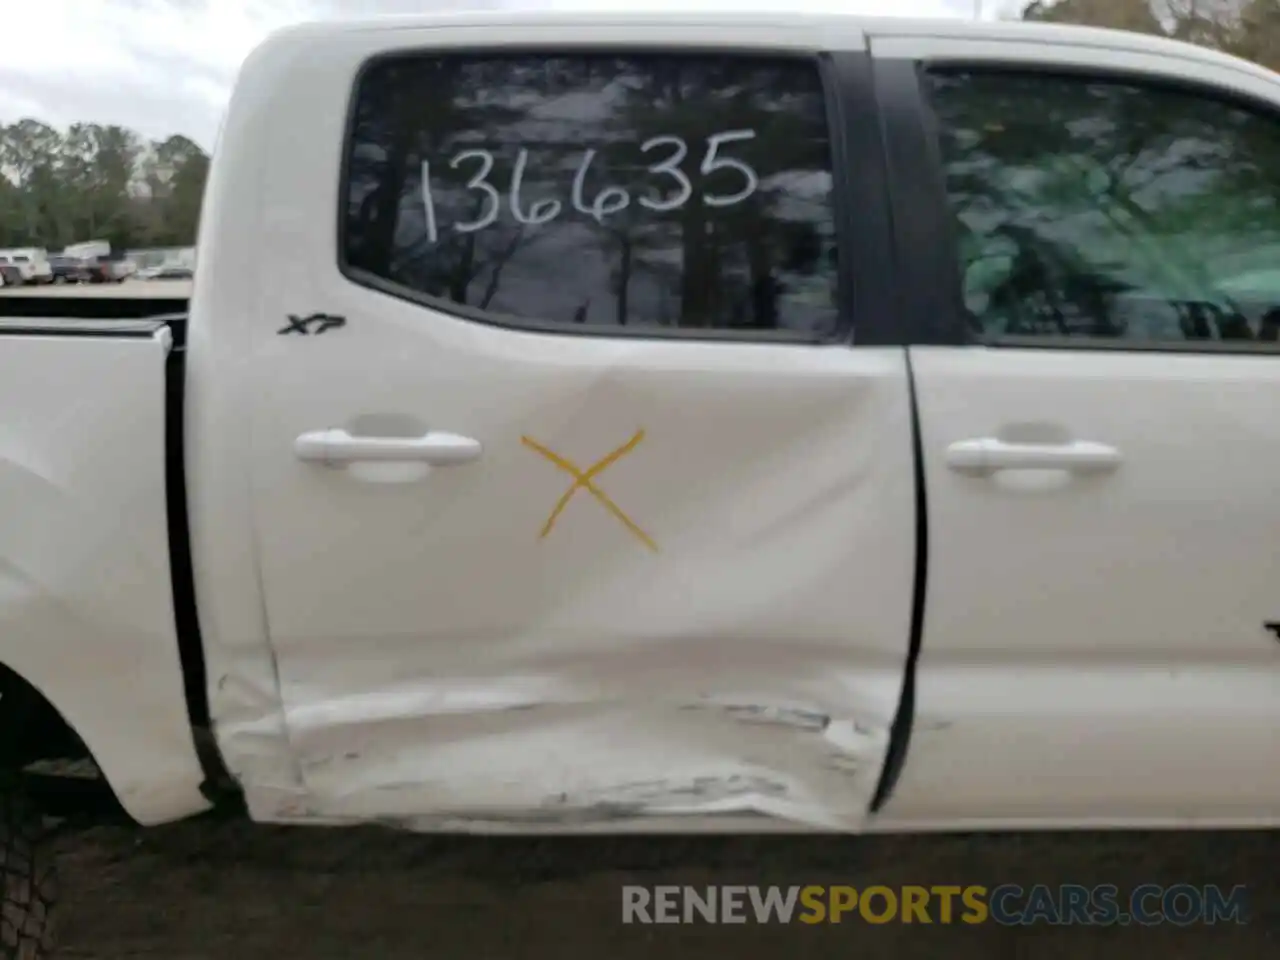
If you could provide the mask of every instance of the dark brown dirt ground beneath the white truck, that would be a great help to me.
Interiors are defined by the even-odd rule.
[[[187,823],[59,845],[68,959],[1280,956],[1280,836],[1265,833],[530,841]],[[621,923],[628,882],[1244,883],[1251,915],[1199,928],[637,927]]]

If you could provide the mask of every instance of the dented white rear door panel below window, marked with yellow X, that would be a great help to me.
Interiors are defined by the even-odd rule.
[[[901,351],[381,310],[356,346],[376,380],[330,375],[352,340],[261,355],[256,517],[307,813],[858,829],[909,635]],[[300,433],[357,410],[416,411],[484,456],[403,483],[292,456]],[[545,456],[585,472],[637,434],[593,479],[630,526]]]

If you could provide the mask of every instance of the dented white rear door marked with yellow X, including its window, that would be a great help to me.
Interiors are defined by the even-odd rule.
[[[863,37],[503,36],[312,35],[257,154],[294,266],[253,294],[252,498],[310,809],[858,829],[916,561]]]

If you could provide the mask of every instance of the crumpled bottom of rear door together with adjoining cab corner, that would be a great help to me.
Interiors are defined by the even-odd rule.
[[[735,673],[735,646],[726,641],[716,657],[726,675]],[[593,681],[581,657],[558,676],[512,664],[506,676],[442,676],[367,694],[292,685],[287,724],[269,685],[250,682],[265,677],[256,663],[219,685],[220,742],[251,814],[265,822],[485,833],[768,822],[858,831],[900,675],[893,664],[797,671],[794,646],[777,653],[772,676],[739,694],[724,692],[727,677],[721,692],[686,692],[687,681],[639,660]],[[620,681],[625,694],[608,689]]]

